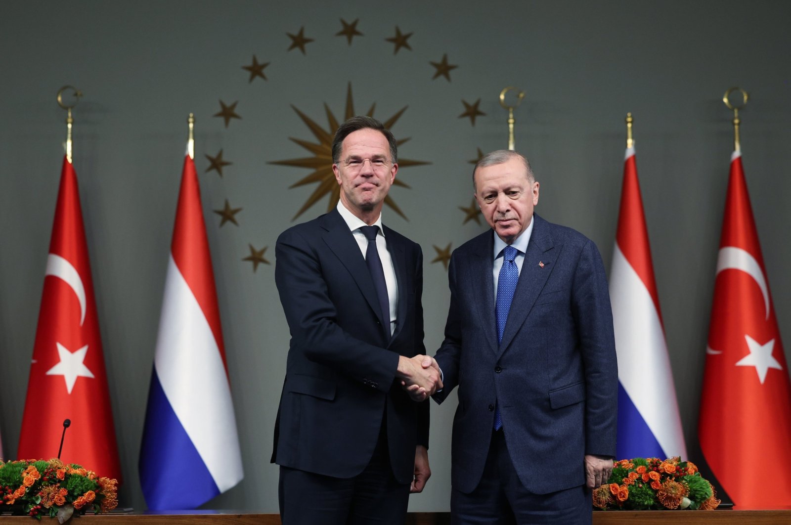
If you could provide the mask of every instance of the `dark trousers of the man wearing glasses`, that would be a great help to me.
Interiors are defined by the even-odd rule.
[[[282,525],[403,525],[409,485],[395,481],[384,425],[373,457],[354,478],[280,467]]]

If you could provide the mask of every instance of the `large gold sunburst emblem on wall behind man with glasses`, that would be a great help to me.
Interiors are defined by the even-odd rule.
[[[373,117],[373,111],[376,108],[377,104],[374,103],[371,105],[371,108],[365,115],[369,117]],[[332,172],[332,137],[335,135],[335,130],[339,127],[338,119],[335,118],[335,115],[332,114],[332,111],[327,106],[327,103],[324,103],[324,111],[327,113],[327,124],[329,130],[324,130],[318,123],[314,120],[310,119],[307,115],[305,115],[302,111],[297,109],[293,104],[291,105],[294,111],[297,111],[297,115],[299,115],[302,122],[308,127],[308,129],[312,132],[313,136],[319,142],[318,144],[308,142],[305,140],[301,140],[299,138],[290,137],[292,142],[295,142],[298,145],[301,145],[303,148],[307,149],[310,153],[313,154],[313,157],[302,157],[298,159],[289,159],[286,161],[272,161],[269,164],[279,164],[281,166],[295,166],[297,168],[309,168],[312,169],[313,172],[310,173],[308,176],[298,180],[296,183],[293,183],[290,187],[299,187],[305,186],[306,184],[318,183],[318,187],[313,191],[313,193],[308,197],[308,200],[305,201],[305,204],[297,211],[297,214],[293,216],[293,219],[299,217],[302,213],[305,213],[308,208],[319,202],[324,196],[329,195],[329,202],[327,203],[327,211],[331,211],[335,206],[338,204],[338,200],[340,198],[340,186],[338,182],[335,180],[335,174]],[[407,111],[407,106],[401,108],[395,115],[392,115],[389,119],[383,122],[384,127],[388,130],[392,128],[392,126],[398,121],[398,119],[403,115],[403,112]],[[354,100],[351,94],[351,83],[349,83],[348,89],[346,89],[346,110],[344,111],[343,119],[350,119],[357,113],[354,112]],[[398,145],[402,145],[404,142],[407,142],[409,138],[402,138],[401,140],[397,141]],[[430,162],[424,161],[412,161],[410,159],[399,158],[399,168],[408,168],[410,166],[419,166],[422,164],[431,164]],[[393,183],[395,186],[401,187],[409,187],[407,183],[402,182],[399,178],[396,177],[395,182]],[[387,204],[398,213],[404,219],[407,218],[406,215],[403,214],[401,209],[393,198],[388,195],[384,198],[384,203]]]

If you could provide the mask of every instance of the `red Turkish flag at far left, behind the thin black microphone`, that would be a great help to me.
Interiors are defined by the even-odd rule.
[[[121,467],[74,167],[64,157],[17,456],[120,481]]]

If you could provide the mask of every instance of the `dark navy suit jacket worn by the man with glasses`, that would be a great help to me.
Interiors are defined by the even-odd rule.
[[[275,283],[291,334],[272,462],[316,474],[360,474],[386,413],[393,474],[414,475],[428,447],[429,405],[395,379],[399,355],[423,346],[422,251],[384,227],[398,281],[395,332],[383,319],[360,247],[337,210],[287,229],[275,247]]]

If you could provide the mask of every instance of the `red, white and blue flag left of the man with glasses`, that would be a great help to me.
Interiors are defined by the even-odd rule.
[[[152,510],[197,508],[244,476],[200,188],[188,155],[139,468]]]

